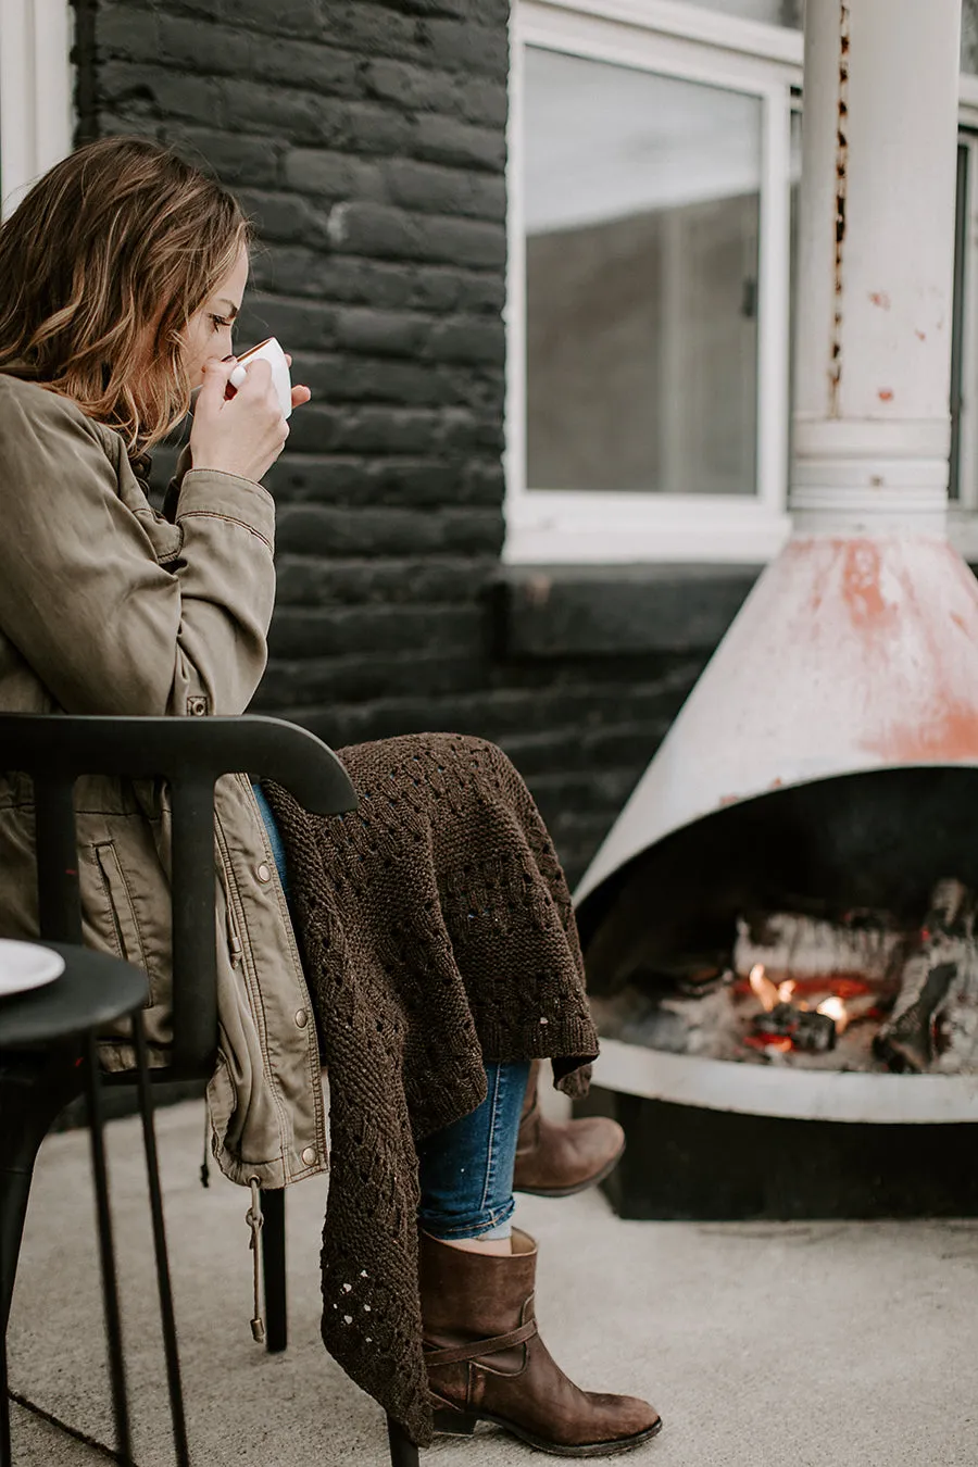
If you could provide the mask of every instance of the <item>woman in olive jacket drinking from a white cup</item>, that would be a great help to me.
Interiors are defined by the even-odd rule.
[[[0,227],[4,711],[246,709],[274,599],[260,481],[287,436],[264,362],[229,386],[246,276],[236,201],[138,139],[79,150]],[[145,455],[196,386],[158,515]],[[293,406],[308,398],[293,389]],[[242,1184],[323,1171],[324,1062],[327,1348],[419,1444],[484,1419],[557,1455],[635,1446],[657,1413],[579,1391],[553,1363],[532,1310],[535,1248],[510,1223],[529,1062],[550,1058],[579,1093],[597,1050],[551,842],[479,739],[342,757],[361,798],[343,819],[243,775],[218,785],[214,1155]],[[163,1064],[166,794],[88,779],[78,810],[87,940],[147,970]],[[4,778],[7,936],[37,932],[31,822],[29,788]],[[132,1064],[125,1033],[104,1062]]]

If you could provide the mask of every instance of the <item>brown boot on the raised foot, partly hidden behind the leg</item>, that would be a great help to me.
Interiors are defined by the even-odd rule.
[[[614,1171],[625,1150],[625,1131],[603,1115],[563,1125],[548,1121],[540,1111],[538,1081],[540,1061],[534,1059],[519,1122],[513,1191],[572,1197]]]

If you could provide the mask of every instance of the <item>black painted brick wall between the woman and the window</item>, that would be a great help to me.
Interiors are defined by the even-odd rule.
[[[261,241],[239,340],[314,400],[268,477],[257,707],[334,745],[497,739],[573,879],[705,657],[507,651],[506,0],[76,0],[79,138],[207,160]]]

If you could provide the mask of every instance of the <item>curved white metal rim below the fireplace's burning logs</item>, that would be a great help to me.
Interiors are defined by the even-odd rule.
[[[978,1075],[880,1075],[669,1055],[603,1039],[594,1084],[648,1100],[881,1125],[974,1124]]]

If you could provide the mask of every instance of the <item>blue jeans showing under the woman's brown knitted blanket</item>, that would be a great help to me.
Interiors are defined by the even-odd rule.
[[[289,899],[286,852],[261,785],[252,780],[282,888]],[[481,1106],[418,1147],[418,1221],[434,1238],[509,1238],[513,1216],[516,1138],[529,1062],[487,1064]]]

